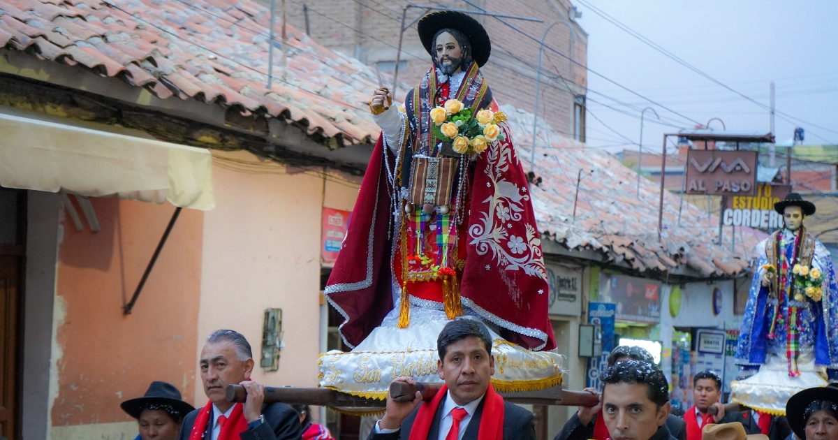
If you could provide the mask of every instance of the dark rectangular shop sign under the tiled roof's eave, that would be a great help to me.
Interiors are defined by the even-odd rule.
[[[660,321],[660,282],[600,272],[599,298],[617,304],[616,318],[620,321]]]

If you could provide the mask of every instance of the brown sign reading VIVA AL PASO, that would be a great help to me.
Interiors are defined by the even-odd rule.
[[[686,194],[753,195],[757,189],[755,151],[690,150]]]

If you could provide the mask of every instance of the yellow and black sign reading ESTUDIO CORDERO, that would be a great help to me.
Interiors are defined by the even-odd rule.
[[[727,197],[722,221],[726,226],[750,226],[767,231],[776,230],[783,226],[783,216],[774,210],[774,204],[785,199],[790,192],[789,185],[761,184],[758,186],[756,195]]]

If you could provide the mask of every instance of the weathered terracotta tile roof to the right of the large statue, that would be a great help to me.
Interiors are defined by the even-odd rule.
[[[532,113],[512,106],[501,108],[509,118],[519,158],[529,171]],[[548,137],[551,148],[546,148]],[[679,223],[680,197],[666,191],[663,241],[659,242],[659,184],[641,179],[638,199],[637,173],[613,154],[584,148],[555,131],[545,133],[540,129],[535,151],[535,174],[543,179],[540,187],[531,190],[539,229],[546,238],[571,250],[600,251],[608,261],[624,261],[638,272],[689,267],[705,277],[717,277],[747,270],[756,256],[755,246],[766,236],[751,228],[737,228],[732,244],[731,228],[727,226],[724,245],[718,246],[718,216],[708,219],[705,211],[684,202]],[[580,169],[582,181],[574,220],[573,199]]]

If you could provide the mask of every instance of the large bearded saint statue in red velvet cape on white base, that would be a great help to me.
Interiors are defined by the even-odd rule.
[[[433,65],[393,106],[324,294],[349,352],[318,361],[320,386],[383,398],[390,380],[440,381],[437,335],[453,318],[489,325],[498,391],[561,383],[548,285],[525,173],[480,67],[489,34],[464,13],[417,23]],[[542,350],[542,351],[535,351]]]

